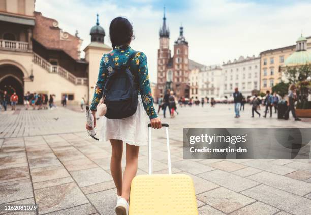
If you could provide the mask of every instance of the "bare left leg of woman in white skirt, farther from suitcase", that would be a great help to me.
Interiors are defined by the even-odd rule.
[[[121,140],[110,140],[112,146],[110,171],[117,189],[118,196],[122,194],[122,154],[123,154],[123,141]]]

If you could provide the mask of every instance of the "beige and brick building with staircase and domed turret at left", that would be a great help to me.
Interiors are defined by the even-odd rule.
[[[91,27],[91,26],[90,26]],[[68,103],[92,99],[102,55],[112,50],[99,25],[91,28],[91,43],[80,58],[82,39],[35,11],[35,0],[0,0],[0,94],[66,95]]]

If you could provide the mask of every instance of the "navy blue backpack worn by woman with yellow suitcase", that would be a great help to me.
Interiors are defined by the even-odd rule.
[[[108,119],[127,118],[136,112],[138,89],[129,69],[129,64],[136,53],[130,54],[127,63],[120,67],[114,66],[113,58],[108,54],[109,66],[112,67],[112,72],[109,73],[103,89],[104,103],[107,106],[105,116]]]

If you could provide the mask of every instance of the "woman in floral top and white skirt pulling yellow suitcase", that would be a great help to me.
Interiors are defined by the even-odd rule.
[[[131,182],[137,172],[139,146],[147,145],[148,142],[144,112],[147,112],[152,128],[161,128],[161,121],[153,106],[146,55],[143,52],[134,51],[129,46],[133,38],[131,23],[126,18],[117,17],[110,23],[109,34],[113,50],[108,54],[104,54],[101,59],[98,80],[90,109],[94,116],[94,127],[96,127],[97,105],[103,97],[105,83],[113,85],[113,81],[121,80],[117,78],[110,79],[112,76],[115,77],[115,71],[123,70],[122,72],[126,72],[124,68],[129,68],[134,78],[134,86],[139,91],[136,112],[132,116],[121,119],[103,117],[100,132],[100,141],[109,140],[112,147],[110,169],[117,189],[115,211],[117,215],[126,215],[129,211],[128,201]],[[131,90],[135,91],[132,87]],[[106,93],[107,91],[105,91],[105,95],[109,94],[109,92]],[[107,101],[105,103],[107,104],[108,113],[109,104]],[[86,125],[86,129],[91,130],[92,128]],[[122,178],[123,142],[126,143],[126,166]]]

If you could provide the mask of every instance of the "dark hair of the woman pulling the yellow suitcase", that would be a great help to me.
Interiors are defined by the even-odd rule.
[[[109,35],[112,48],[127,45],[133,39],[133,26],[128,19],[116,17],[110,23]]]

